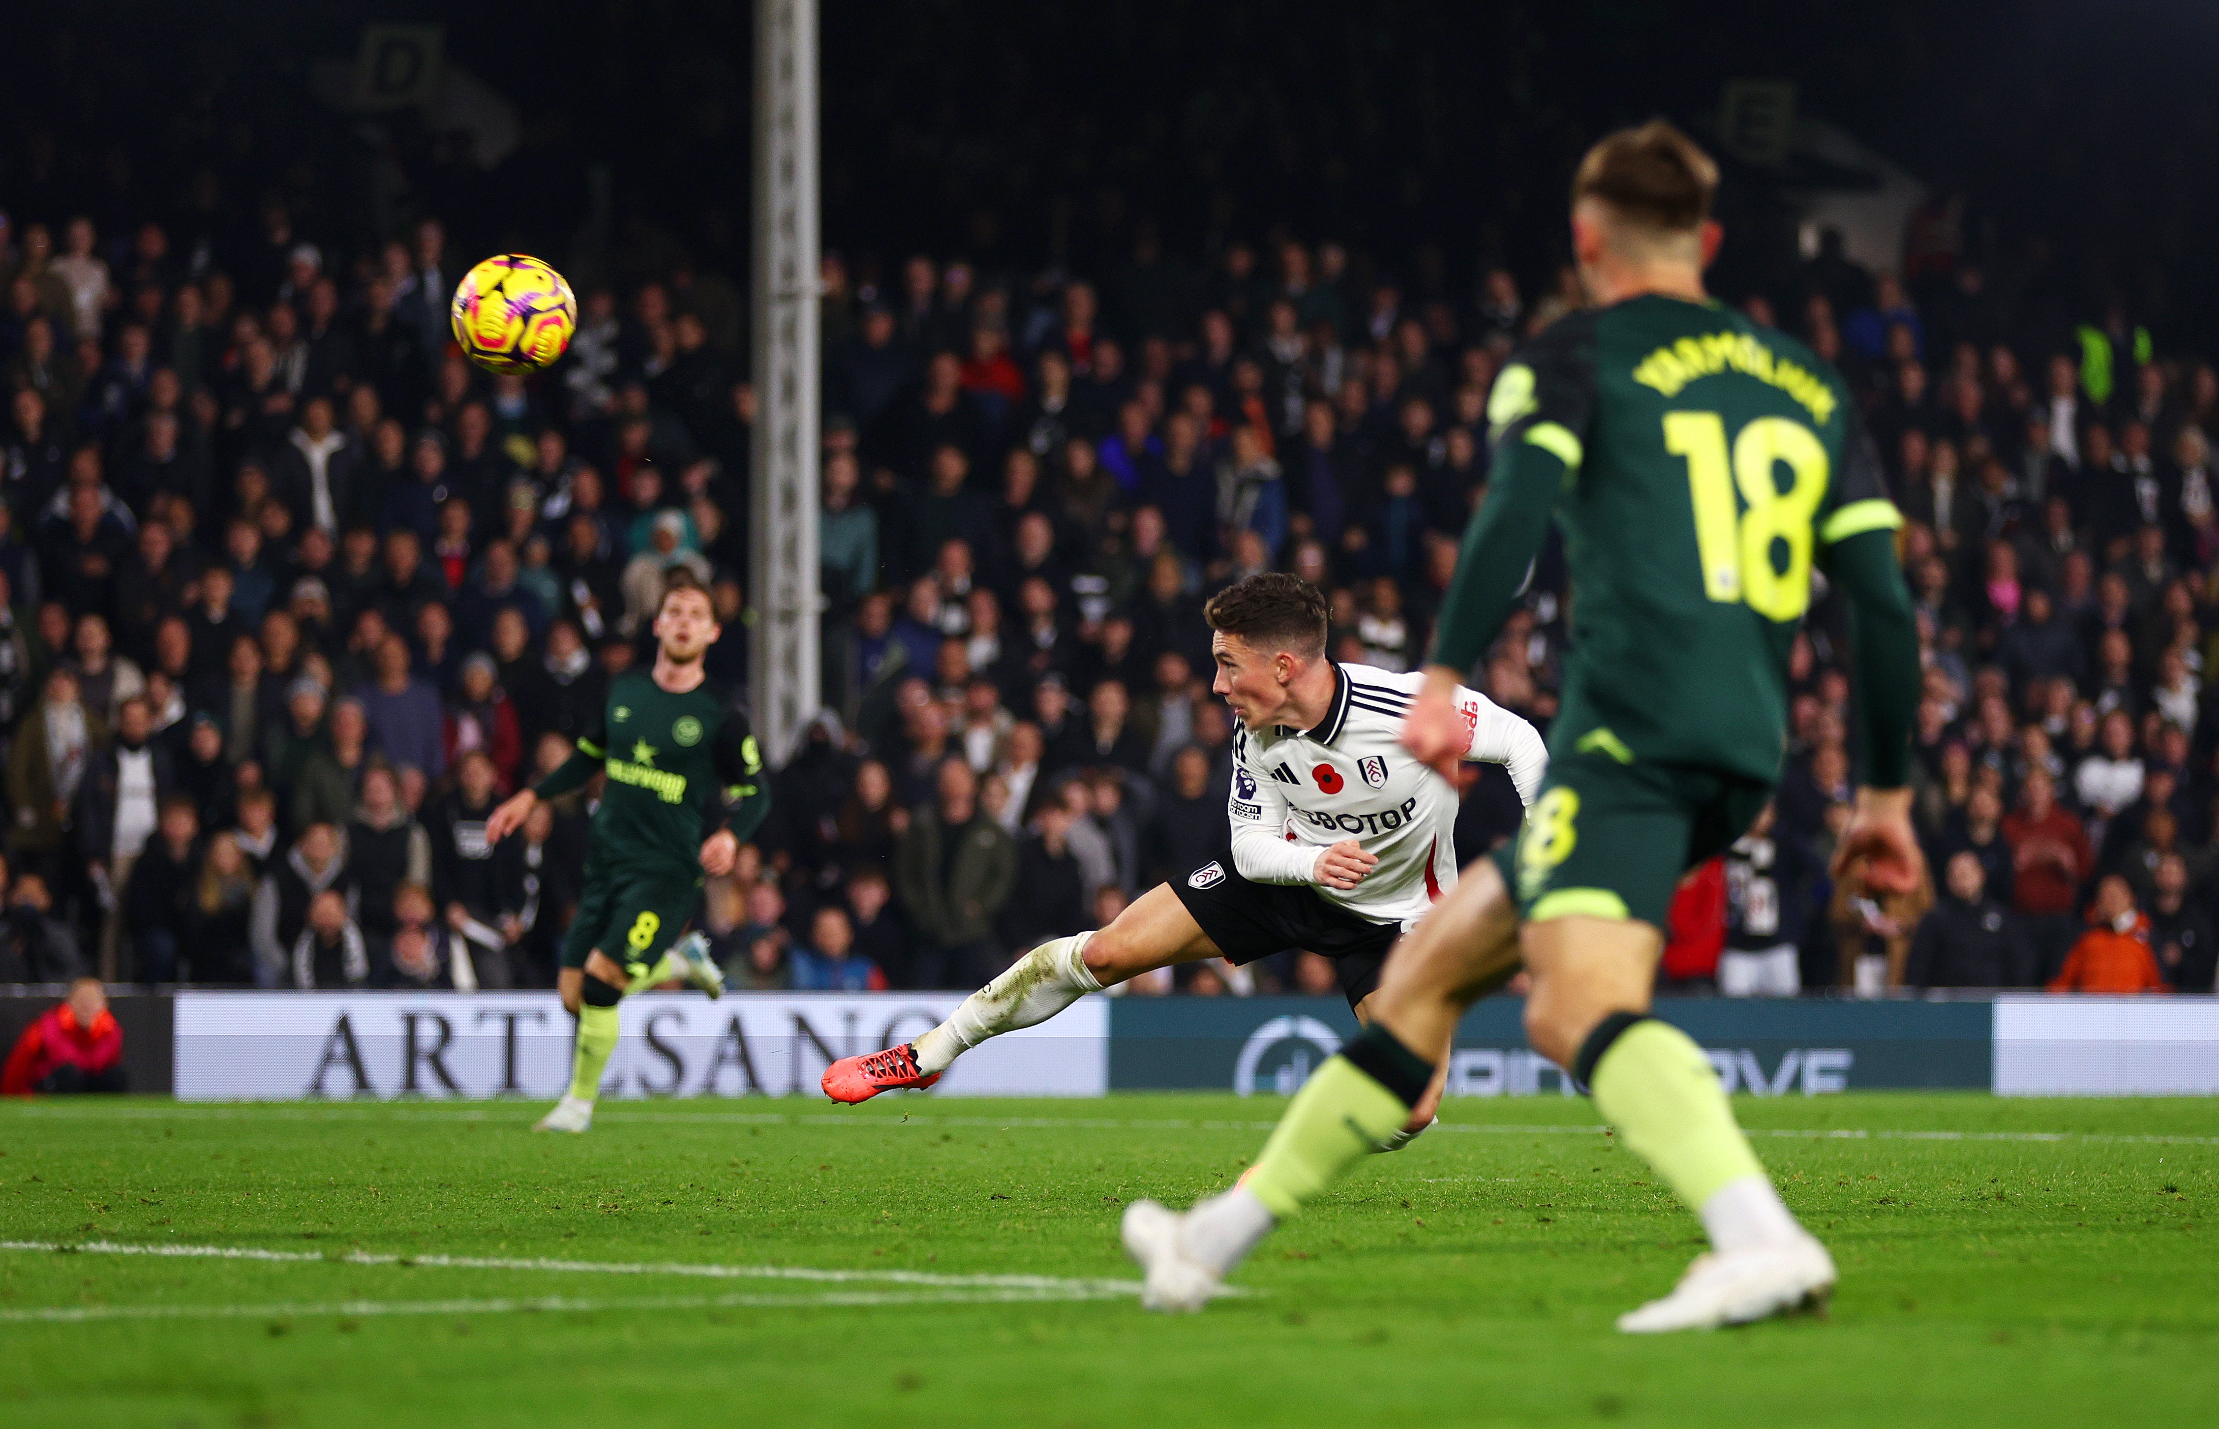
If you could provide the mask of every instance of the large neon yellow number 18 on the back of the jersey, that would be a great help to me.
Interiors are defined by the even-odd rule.
[[[1664,450],[1686,459],[1704,595],[1746,601],[1764,619],[1797,619],[1811,606],[1811,519],[1833,468],[1817,433],[1786,417],[1757,417],[1733,439],[1729,468],[1718,413],[1664,413]],[[1773,475],[1777,466],[1789,468],[1786,490]],[[1773,566],[1775,539],[1789,546],[1786,570]]]

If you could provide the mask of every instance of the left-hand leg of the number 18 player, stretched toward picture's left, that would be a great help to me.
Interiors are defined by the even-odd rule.
[[[1145,1307],[1200,1309],[1274,1225],[1409,1127],[1465,1007],[1516,972],[1516,930],[1500,874],[1476,863],[1396,943],[1369,1001],[1376,1016],[1303,1085],[1234,1189],[1185,1214],[1154,1200],[1125,1207],[1125,1249],[1147,1271]]]

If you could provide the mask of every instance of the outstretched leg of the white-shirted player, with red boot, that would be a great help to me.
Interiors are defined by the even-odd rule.
[[[990,1036],[1045,1023],[1085,994],[1152,967],[1216,954],[1218,945],[1203,934],[1178,894],[1158,883],[1110,928],[1052,939],[1010,963],[914,1043],[839,1058],[825,1067],[825,1096],[852,1103],[899,1087],[930,1087],[954,1058]]]

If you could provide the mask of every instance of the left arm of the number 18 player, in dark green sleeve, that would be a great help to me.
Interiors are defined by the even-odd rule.
[[[1456,708],[1465,672],[1496,643],[1502,621],[1549,535],[1556,497],[1580,473],[1595,382],[1589,324],[1569,317],[1549,328],[1496,377],[1487,397],[1491,462],[1487,499],[1471,513],[1456,575],[1433,621],[1425,686],[1402,723],[1402,746],[1440,772],[1469,748]],[[1524,783],[1520,797],[1529,797]]]

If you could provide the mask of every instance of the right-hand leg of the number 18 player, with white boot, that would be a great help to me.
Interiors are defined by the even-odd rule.
[[[1833,1258],[1780,1200],[1733,1121],[1718,1072],[1684,1032],[1649,1016],[1655,928],[1564,916],[1524,930],[1533,1047],[1593,1090],[1595,1107],[1702,1216],[1711,1254],[1618,1329],[1715,1329],[1824,1305]]]

